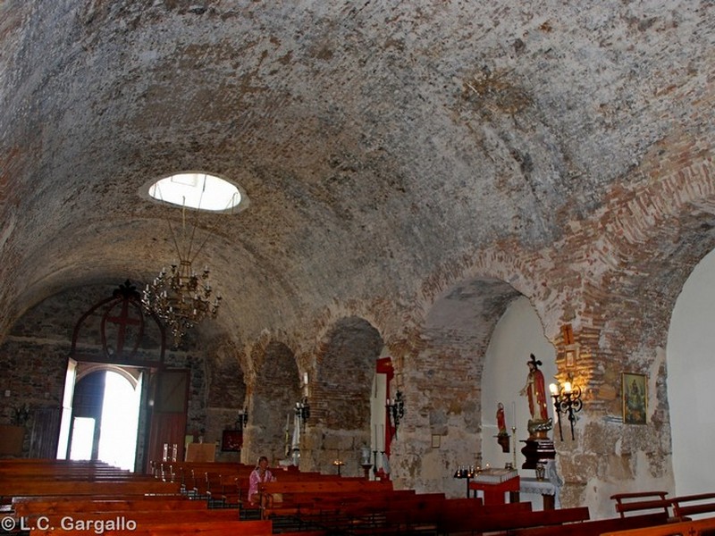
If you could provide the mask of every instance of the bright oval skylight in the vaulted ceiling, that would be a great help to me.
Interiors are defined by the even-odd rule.
[[[228,212],[241,202],[239,188],[215,175],[184,172],[157,180],[148,194],[157,201],[211,212]]]

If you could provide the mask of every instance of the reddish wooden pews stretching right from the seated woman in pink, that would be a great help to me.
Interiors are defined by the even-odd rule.
[[[587,507],[532,511],[527,502],[484,505],[481,498],[393,490],[391,482],[279,480],[262,484],[260,491],[282,497],[282,502],[265,509],[266,519],[288,517],[296,526],[335,534],[506,534],[526,527],[582,522],[589,517]]]

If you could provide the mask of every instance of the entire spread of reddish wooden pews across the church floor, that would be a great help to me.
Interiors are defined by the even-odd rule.
[[[715,494],[679,498],[667,498],[661,492],[618,494],[613,497],[618,517],[591,520],[587,507],[533,511],[531,503],[484,505],[481,498],[395,490],[389,481],[297,468],[272,469],[277,481],[266,482],[260,491],[276,500],[264,511],[251,510],[243,499],[253,469],[240,464],[164,463],[155,465],[152,474],[140,475],[101,463],[4,460],[0,461],[4,508],[0,516],[13,520],[13,532],[30,536],[262,536],[279,532],[283,536],[487,532],[499,536],[642,536],[670,535],[678,532],[668,531],[681,529],[715,533],[715,520],[689,519],[711,515]],[[224,499],[231,494],[233,502]]]

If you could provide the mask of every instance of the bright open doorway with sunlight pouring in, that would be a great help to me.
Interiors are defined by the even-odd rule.
[[[114,368],[81,375],[74,386],[66,452],[73,460],[100,460],[133,471],[142,374]]]

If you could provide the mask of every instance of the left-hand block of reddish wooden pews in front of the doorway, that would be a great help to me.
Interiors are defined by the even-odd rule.
[[[236,483],[233,482],[235,486]],[[270,520],[240,520],[164,481],[93,462],[0,461],[1,531],[30,536],[273,534]],[[290,536],[290,532],[283,532]],[[324,531],[300,536],[325,536]]]

